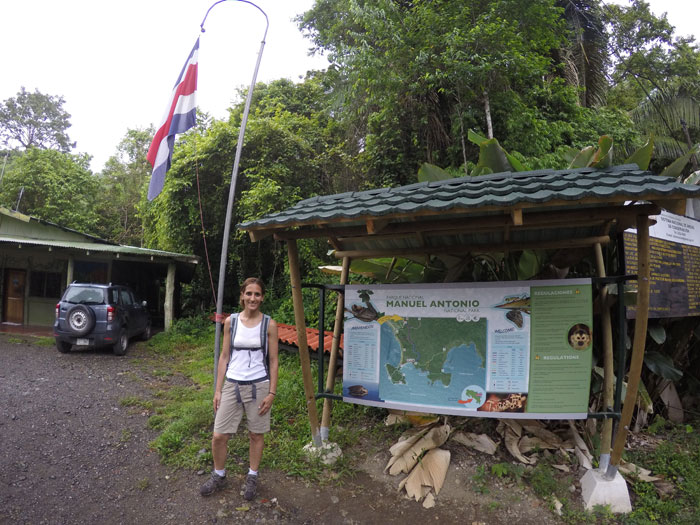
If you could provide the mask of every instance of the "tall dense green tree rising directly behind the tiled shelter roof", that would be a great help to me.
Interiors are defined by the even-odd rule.
[[[300,25],[331,60],[366,185],[381,186],[413,182],[425,161],[467,164],[470,128],[528,156],[570,144],[584,114],[552,59],[563,15],[554,0],[322,0]]]

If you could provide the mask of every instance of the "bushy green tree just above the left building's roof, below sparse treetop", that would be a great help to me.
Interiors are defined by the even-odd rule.
[[[96,234],[101,213],[96,205],[99,188],[89,161],[85,154],[30,148],[8,163],[0,203],[60,226]]]

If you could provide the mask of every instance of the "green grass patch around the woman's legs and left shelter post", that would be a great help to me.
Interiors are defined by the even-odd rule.
[[[153,415],[148,424],[161,433],[151,442],[151,446],[158,451],[165,464],[191,469],[211,468],[213,327],[210,323],[203,327],[189,320],[180,321],[173,330],[154,336],[148,346],[156,356],[168,361],[167,366],[172,373],[182,374],[191,381],[187,387],[159,385],[160,390],[155,393],[157,403],[152,407]],[[316,385],[315,363],[312,363],[312,368]],[[322,407],[323,400],[317,401],[319,418]],[[345,449],[368,433],[395,433],[394,429],[377,424],[382,417],[383,411],[376,408],[334,403],[333,419],[342,421],[343,426],[331,426],[330,440]],[[324,475],[324,471],[328,467],[304,456],[302,449],[310,441],[311,430],[299,358],[281,352],[277,396],[272,408],[272,429],[265,436],[262,467],[306,479],[326,479],[328,476]],[[202,450],[205,452],[202,453]],[[233,471],[242,472],[247,468],[247,461],[248,433],[244,422],[229,441],[227,466]],[[336,473],[350,472],[350,458],[343,456],[333,470]]]

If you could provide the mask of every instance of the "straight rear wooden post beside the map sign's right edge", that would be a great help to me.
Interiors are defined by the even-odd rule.
[[[605,261],[603,260],[603,249],[601,245],[595,244],[595,258],[596,267],[598,270],[598,277],[605,277]],[[620,289],[622,284],[620,284]],[[621,299],[620,299],[621,300]],[[612,321],[610,319],[610,305],[608,304],[608,289],[605,285],[600,291],[600,306],[601,306],[601,327],[603,330],[603,404],[604,410],[606,412],[611,412],[613,407],[613,397],[614,397],[614,385],[613,378],[615,376],[614,370],[614,356],[613,356],[613,342],[612,342]],[[620,372],[619,381],[622,381],[622,373]],[[608,417],[603,421],[603,431],[600,438],[600,462],[599,470],[605,472],[610,464],[610,448],[612,446],[612,427],[613,420]]]

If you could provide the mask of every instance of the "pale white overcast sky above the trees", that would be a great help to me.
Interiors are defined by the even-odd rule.
[[[624,3],[624,0],[617,0]],[[172,86],[214,0],[0,0],[3,74],[0,101],[24,86],[65,98],[68,133],[76,152],[102,169],[128,128],[157,125]],[[298,81],[309,69],[325,69],[310,57],[310,42],[292,21],[313,0],[257,0],[270,21],[258,81]],[[668,11],[678,34],[699,33],[700,1],[652,0]],[[253,76],[265,18],[253,6],[216,5],[201,34],[198,105],[226,116],[236,88]]]

